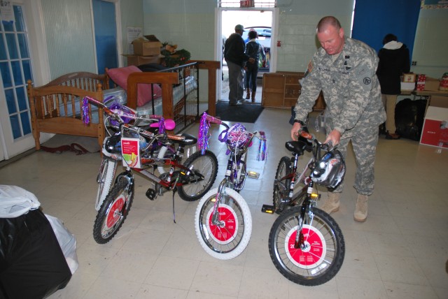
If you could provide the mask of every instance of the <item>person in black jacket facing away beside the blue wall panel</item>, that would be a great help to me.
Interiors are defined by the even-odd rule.
[[[409,72],[409,49],[398,42],[393,34],[384,36],[383,45],[378,51],[377,76],[386,108],[386,139],[399,139],[400,136],[395,132],[395,104],[401,92],[401,75]]]

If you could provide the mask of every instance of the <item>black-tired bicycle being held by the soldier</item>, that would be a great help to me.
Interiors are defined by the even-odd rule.
[[[288,141],[293,157],[283,156],[274,180],[274,205],[264,205],[262,212],[280,212],[269,231],[269,256],[281,275],[296,284],[317,286],[335,277],[345,256],[344,235],[336,221],[316,207],[320,194],[316,185],[337,187],[345,174],[342,155],[330,144],[319,143],[301,131],[298,141]],[[312,152],[302,173],[297,160],[304,151]],[[321,154],[321,151],[325,154]],[[307,175],[305,175],[307,173]],[[294,194],[296,182],[304,187]]]

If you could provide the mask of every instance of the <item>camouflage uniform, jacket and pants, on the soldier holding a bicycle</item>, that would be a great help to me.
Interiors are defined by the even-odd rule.
[[[360,41],[344,38],[344,48],[333,61],[323,48],[314,54],[302,79],[302,93],[295,105],[295,119],[304,121],[319,92],[325,109],[325,129],[341,133],[339,150],[346,156],[351,141],[356,157],[355,189],[370,195],[374,187],[374,160],[378,126],[386,120],[381,89],[375,74],[377,53]],[[335,192],[341,192],[343,184]]]

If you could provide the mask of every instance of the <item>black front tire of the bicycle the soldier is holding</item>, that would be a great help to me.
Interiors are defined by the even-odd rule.
[[[332,219],[329,214],[316,207],[311,207],[311,212],[314,213],[313,223],[318,222],[319,224],[321,224],[321,229],[328,228],[329,230],[324,234],[325,237],[334,238],[333,241],[335,242],[335,254],[332,256],[332,263],[328,267],[323,268],[322,271],[318,271],[317,275],[300,275],[299,273],[295,272],[295,270],[298,271],[300,268],[294,265],[292,261],[290,261],[286,253],[281,253],[283,249],[282,247],[285,245],[285,241],[279,241],[279,238],[282,238],[280,237],[280,234],[286,235],[286,226],[288,226],[288,228],[286,229],[292,229],[294,227],[288,222],[291,219],[297,219],[297,217],[300,216],[300,208],[300,205],[291,207],[290,209],[279,215],[276,221],[274,221],[271,231],[269,232],[269,255],[271,256],[272,262],[274,263],[277,270],[279,270],[281,275],[289,279],[291,282],[295,282],[296,284],[301,284],[303,286],[318,286],[320,284],[328,282],[330,279],[335,277],[337,272],[339,272],[340,268],[342,267],[345,256],[344,236],[342,235],[342,231],[337,225],[336,221]],[[330,235],[328,235],[328,233],[330,233]],[[284,259],[282,259],[281,256],[283,256]],[[331,256],[325,256],[325,258],[328,259],[330,257]],[[325,262],[327,262],[327,260],[325,260]],[[318,265],[318,267],[320,266],[321,265]],[[306,270],[300,269],[300,271]]]

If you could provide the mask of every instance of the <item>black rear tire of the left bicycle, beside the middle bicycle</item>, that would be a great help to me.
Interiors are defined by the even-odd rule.
[[[185,163],[183,163],[183,166],[185,166],[186,168],[190,168],[191,165],[194,166],[195,161],[197,161],[198,159],[203,159],[204,157],[208,157],[211,161],[211,166],[207,166],[207,168],[211,167],[211,174],[209,176],[209,180],[207,181],[206,178],[206,180],[197,183],[200,184],[200,186],[203,186],[203,188],[200,189],[199,191],[195,191],[194,194],[191,194],[191,192],[186,191],[186,189],[189,189],[192,186],[192,184],[186,184],[184,186],[179,187],[178,193],[183,200],[195,201],[202,198],[202,196],[204,196],[204,194],[206,194],[211,189],[216,180],[216,175],[218,175],[218,159],[216,159],[215,154],[213,152],[210,152],[209,150],[206,150],[204,154],[202,154],[200,151],[195,152],[187,159],[187,161],[185,161]],[[205,173],[204,170],[207,169],[200,169],[199,171],[201,174],[204,174]],[[205,184],[203,184],[203,182],[205,182]]]

